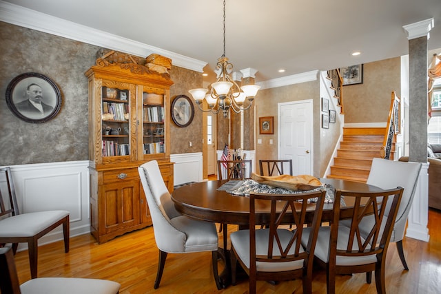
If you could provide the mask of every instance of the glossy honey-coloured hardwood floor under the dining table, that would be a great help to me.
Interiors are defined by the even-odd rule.
[[[387,293],[441,293],[440,211],[429,210],[429,242],[404,238],[410,271],[404,271],[395,244],[387,253]],[[229,226],[229,230],[236,230]],[[219,235],[222,244],[222,235]],[[28,251],[17,253],[19,281],[30,279]],[[104,244],[91,235],[71,238],[70,252],[63,242],[39,247],[39,277],[94,277],[121,283],[120,293],[247,293],[247,280],[218,291],[212,277],[211,253],[169,254],[161,285],[153,289],[158,249],[152,227],[127,233]],[[366,284],[365,274],[338,276],[336,293],[376,293],[375,277]],[[258,293],[302,293],[300,280],[272,285],[258,282]],[[326,273],[314,269],[314,293],[326,293]]]

